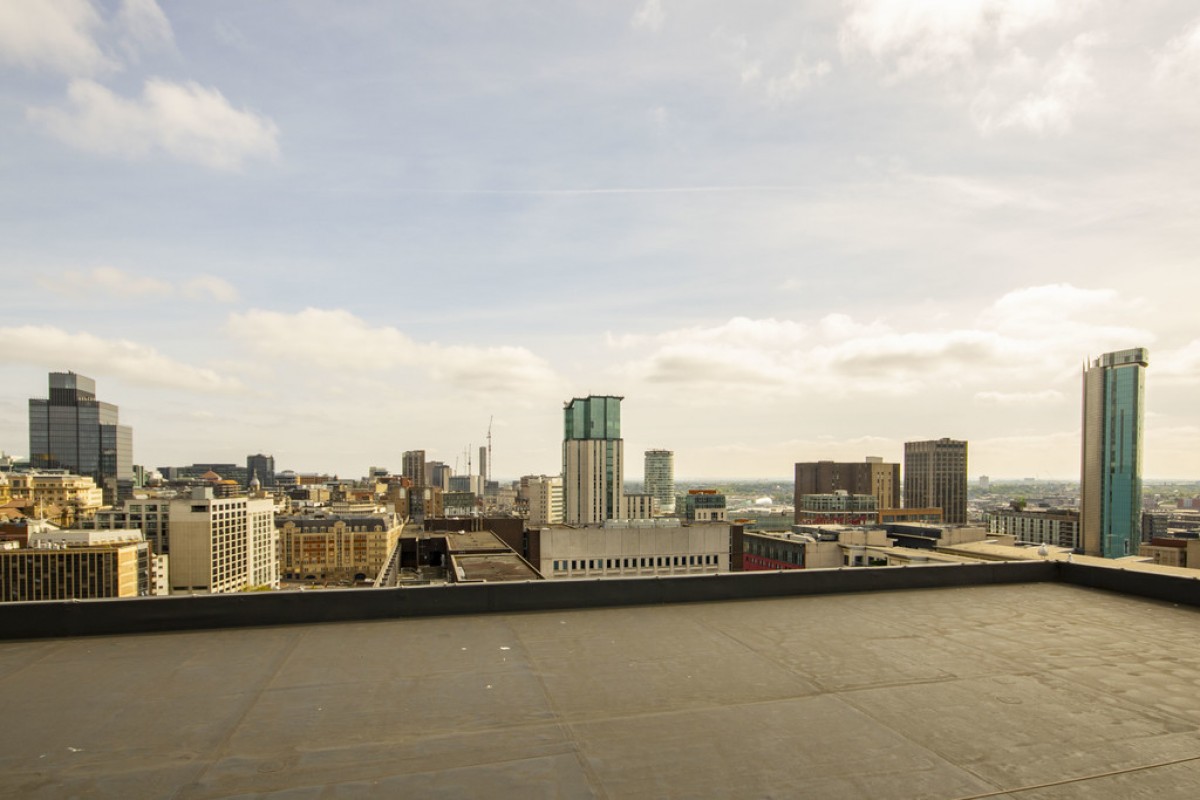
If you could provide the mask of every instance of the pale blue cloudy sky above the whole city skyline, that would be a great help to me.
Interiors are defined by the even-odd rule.
[[[0,7],[0,450],[73,369],[151,467],[629,475],[971,441],[1074,476],[1147,347],[1200,475],[1200,12],[1100,0]]]

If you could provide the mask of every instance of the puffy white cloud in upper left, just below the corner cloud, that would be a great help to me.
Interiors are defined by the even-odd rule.
[[[67,95],[66,108],[30,108],[26,115],[80,150],[126,158],[163,152],[214,169],[238,169],[280,152],[275,122],[196,83],[152,78],[140,98],[128,100],[78,79]]]

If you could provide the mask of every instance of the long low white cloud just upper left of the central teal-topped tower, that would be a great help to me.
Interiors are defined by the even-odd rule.
[[[464,391],[562,393],[558,375],[526,348],[418,342],[340,308],[290,314],[252,309],[230,315],[227,330],[260,355],[323,369],[378,373],[413,367]]]

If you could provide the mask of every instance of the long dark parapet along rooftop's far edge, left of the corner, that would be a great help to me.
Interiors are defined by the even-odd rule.
[[[122,600],[0,603],[0,639],[1037,583],[1060,579],[1061,575],[1057,569],[1060,566],[1063,565],[1050,561],[984,561],[929,566],[733,572],[662,578],[469,583],[410,589],[173,595]],[[1078,565],[1066,566],[1075,567]],[[1104,571],[1104,567],[1081,569]],[[1074,573],[1075,570],[1072,572]],[[1072,579],[1069,583],[1092,585],[1082,579],[1086,577],[1086,572],[1080,575],[1081,579]],[[1145,577],[1145,573],[1123,575]],[[1150,578],[1160,579],[1159,576],[1150,576]],[[1193,583],[1193,590],[1195,585]],[[1130,594],[1140,593],[1132,591]]]

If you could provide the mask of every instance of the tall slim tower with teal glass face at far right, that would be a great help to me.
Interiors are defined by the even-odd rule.
[[[1136,555],[1140,543],[1145,348],[1105,353],[1084,368],[1080,535],[1084,553]]]

